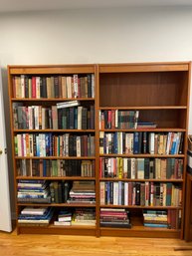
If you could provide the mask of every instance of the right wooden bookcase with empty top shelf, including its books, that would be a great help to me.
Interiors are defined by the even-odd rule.
[[[98,65],[98,85],[99,234],[183,238],[190,63]]]

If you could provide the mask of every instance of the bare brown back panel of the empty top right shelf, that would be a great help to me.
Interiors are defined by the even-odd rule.
[[[186,106],[186,78],[186,72],[100,74],[99,106]]]

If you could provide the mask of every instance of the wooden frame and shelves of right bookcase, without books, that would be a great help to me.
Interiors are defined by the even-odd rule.
[[[144,237],[180,237],[183,238],[185,176],[187,164],[187,133],[189,116],[190,63],[146,63],[146,64],[101,64],[98,65],[98,110],[138,110],[139,122],[152,122],[157,128],[137,129],[153,132],[184,132],[182,154],[100,154],[100,157],[181,157],[184,160],[183,178],[171,180],[180,183],[183,191],[181,230],[145,229],[142,226],[142,206],[127,207],[140,214],[140,224],[135,223],[128,230],[100,228],[100,235],[144,236]],[[100,129],[105,132],[129,131],[132,129]],[[100,178],[100,181],[105,179]],[[113,179],[106,179],[113,180]],[[119,179],[116,179],[119,180]],[[120,179],[123,180],[124,179]],[[135,181],[132,179],[132,181]],[[150,180],[149,181],[154,181]],[[160,181],[160,180],[158,180]],[[170,180],[162,179],[161,182]],[[116,207],[105,205],[105,207]],[[104,207],[104,205],[100,205]],[[119,207],[119,206],[118,206]],[[124,208],[124,206],[120,206]],[[147,207],[146,207],[147,208]],[[153,208],[153,207],[149,207]],[[156,208],[156,207],[154,207]],[[157,207],[168,209],[171,207]],[[140,211],[140,212],[139,212]],[[131,216],[131,213],[130,213]],[[134,221],[132,214],[131,221]]]

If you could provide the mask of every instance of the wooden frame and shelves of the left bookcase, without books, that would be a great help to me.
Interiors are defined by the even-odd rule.
[[[13,128],[13,113],[12,113],[12,104],[13,103],[22,103],[24,106],[29,107],[33,105],[41,105],[43,107],[52,107],[53,105],[56,105],[60,102],[66,102],[66,101],[73,101],[73,100],[79,100],[83,103],[85,106],[90,106],[95,104],[95,113],[96,113],[96,98],[47,98],[47,99],[18,99],[13,98],[13,84],[12,79],[14,76],[20,76],[20,75],[26,75],[26,76],[55,76],[55,75],[62,75],[62,76],[69,76],[74,74],[95,74],[96,78],[96,65],[93,64],[87,64],[87,65],[39,65],[39,66],[8,66],[8,82],[9,82],[9,98],[10,98],[10,117],[11,117],[11,131],[12,131],[12,137],[18,133],[22,132],[53,132],[53,133],[78,133],[78,134],[94,134],[96,136],[96,128],[95,129],[14,129]],[[96,79],[97,83],[97,79]],[[96,118],[95,118],[95,127],[96,127]],[[77,160],[94,160],[96,162],[96,155],[94,156],[45,156],[45,157],[39,157],[39,156],[28,156],[28,157],[21,157],[21,156],[15,156],[15,148],[14,148],[14,139],[12,139],[12,155],[14,159],[14,176],[15,176],[15,201],[16,201],[16,216],[20,213],[21,209],[24,208],[24,206],[53,206],[56,209],[60,209],[61,207],[69,207],[69,208],[97,208],[98,202],[93,204],[85,204],[85,203],[18,203],[17,202],[17,182],[19,179],[45,179],[45,180],[94,180],[96,182],[97,178],[95,177],[81,177],[81,176],[65,176],[65,177],[32,177],[32,176],[24,176],[21,177],[17,173],[16,163],[19,159],[77,159]],[[96,163],[96,169],[97,169],[97,163]],[[98,185],[96,185],[97,189]],[[98,191],[96,190],[96,194],[98,194]],[[27,226],[27,225],[19,225],[16,223],[17,226],[17,232],[19,233],[44,233],[44,234],[71,234],[71,235],[94,235],[97,236],[97,228],[95,226],[68,226],[68,227],[58,227],[53,225],[53,221],[56,218],[52,220],[52,223],[48,227],[42,227],[42,226]]]

